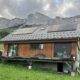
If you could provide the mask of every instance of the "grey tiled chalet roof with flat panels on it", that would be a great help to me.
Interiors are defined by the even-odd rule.
[[[71,39],[77,37],[80,37],[80,26],[75,22],[18,29],[1,41]]]

